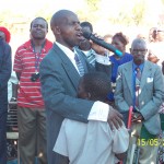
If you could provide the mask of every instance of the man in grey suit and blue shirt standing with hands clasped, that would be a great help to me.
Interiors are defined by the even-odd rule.
[[[161,132],[159,108],[164,99],[162,71],[157,65],[144,60],[148,48],[143,39],[134,39],[130,51],[133,60],[119,67],[115,91],[119,112],[128,112],[133,106],[127,164],[137,142],[139,163],[156,163],[157,134]]]

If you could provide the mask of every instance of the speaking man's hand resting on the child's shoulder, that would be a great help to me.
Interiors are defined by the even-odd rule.
[[[122,115],[110,106],[107,122],[109,124],[112,130],[114,127],[118,129],[122,126]]]

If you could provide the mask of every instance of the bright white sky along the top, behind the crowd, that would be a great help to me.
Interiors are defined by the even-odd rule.
[[[161,10],[161,0],[150,1],[150,0],[99,0],[99,10],[102,14],[102,20],[106,19],[108,14],[112,16],[117,16],[119,10],[126,8],[125,11],[128,12],[134,2],[147,1],[149,5],[150,19],[159,13]],[[10,11],[14,15],[21,15],[25,17],[34,17],[37,11],[43,10],[48,14],[54,14],[60,9],[68,9],[77,12],[78,10],[85,10],[86,0],[4,0],[1,2],[0,12]]]

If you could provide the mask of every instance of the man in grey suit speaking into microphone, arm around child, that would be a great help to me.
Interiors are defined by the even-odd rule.
[[[84,39],[77,14],[68,10],[56,12],[50,21],[56,37],[54,47],[40,63],[42,92],[47,112],[47,147],[48,164],[60,164],[59,157],[52,152],[60,126],[65,118],[87,122],[90,119],[108,121],[117,128],[121,125],[121,115],[102,102],[77,98],[77,87],[82,75],[74,60],[74,46]],[[84,55],[75,49],[83,73],[94,71]],[[96,69],[109,72],[108,58],[101,56]],[[103,65],[103,62],[106,65]]]

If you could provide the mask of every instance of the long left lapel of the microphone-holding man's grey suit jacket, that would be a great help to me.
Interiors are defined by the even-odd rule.
[[[71,60],[67,57],[67,55],[56,44],[54,45],[54,50],[59,55],[59,58],[62,60],[61,65],[67,72],[69,79],[71,80],[74,89],[77,90],[80,80],[80,75],[77,69],[74,68]]]

